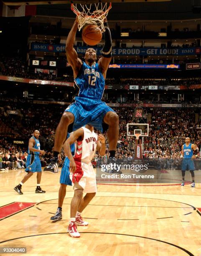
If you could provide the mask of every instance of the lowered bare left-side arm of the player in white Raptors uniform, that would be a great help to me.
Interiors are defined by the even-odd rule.
[[[70,145],[73,144],[79,137],[83,138],[83,136],[84,136],[84,130],[82,128],[79,128],[74,133],[72,133],[71,136],[64,143],[64,152],[66,153],[68,159],[70,160],[69,170],[70,172],[73,172],[73,173],[76,171],[76,164],[71,153]]]

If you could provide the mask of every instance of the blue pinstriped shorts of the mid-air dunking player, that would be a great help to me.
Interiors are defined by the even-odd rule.
[[[73,131],[90,124],[101,132],[103,131],[103,118],[109,111],[115,112],[105,102],[82,97],[75,97],[75,102],[65,110],[74,115]]]

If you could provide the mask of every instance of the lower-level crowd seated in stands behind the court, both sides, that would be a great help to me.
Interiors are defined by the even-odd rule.
[[[40,131],[41,148],[46,150],[46,154],[41,156],[41,162],[43,166],[48,164],[52,156],[56,127],[65,108],[66,106],[56,104],[27,104],[18,100],[0,101],[0,169],[20,169],[26,166],[28,139],[36,129]],[[16,110],[17,114],[9,114],[8,110]],[[116,107],[114,110],[120,120],[116,156],[119,162],[125,163],[131,161],[135,155],[135,138],[127,136],[126,131],[126,124],[134,122],[134,109]],[[143,110],[143,122],[149,123],[149,136],[144,137],[142,143],[142,155],[145,159],[170,159],[166,161],[166,167],[175,168],[176,164],[179,165],[181,162],[178,159],[181,155],[181,146],[187,136],[198,146],[198,150],[201,150],[201,121],[195,122],[195,113],[199,113],[198,109],[143,108]],[[19,147],[13,144],[12,139],[24,140],[25,143]],[[94,166],[107,163],[109,148],[107,140],[106,146],[107,154],[102,158],[95,155]],[[64,152],[61,152],[61,159],[64,158]],[[200,154],[198,154],[199,158]]]

